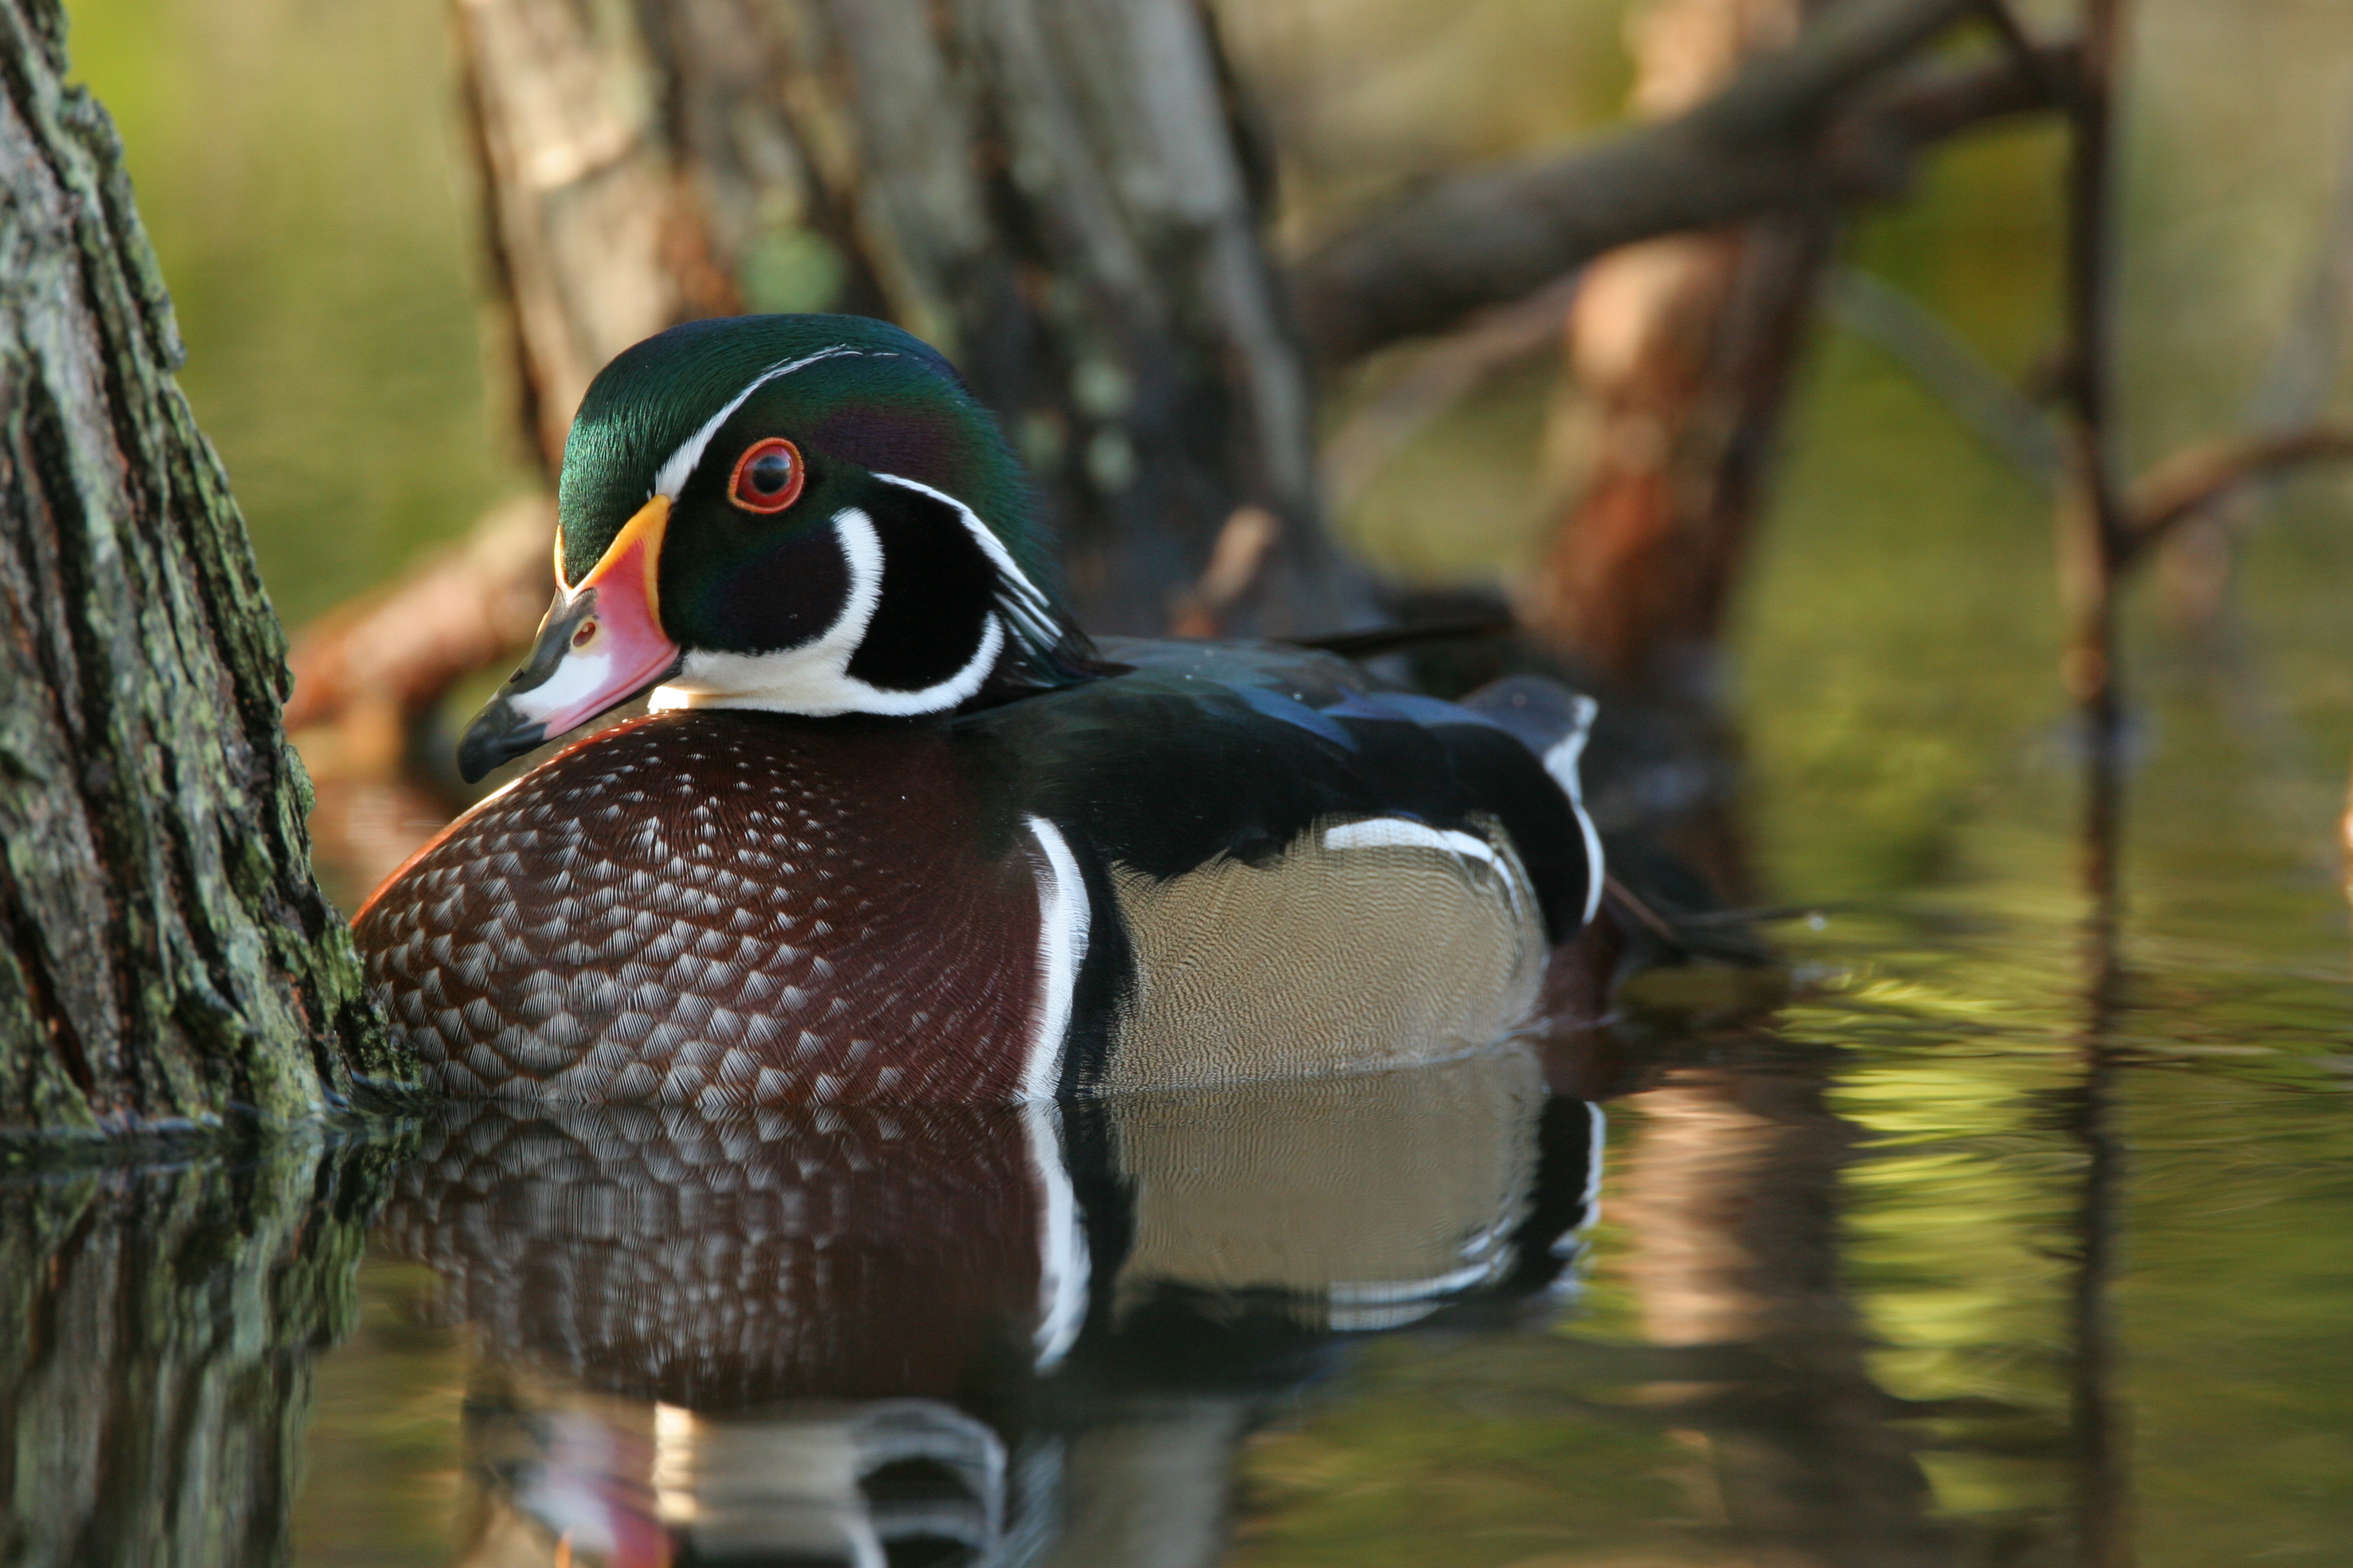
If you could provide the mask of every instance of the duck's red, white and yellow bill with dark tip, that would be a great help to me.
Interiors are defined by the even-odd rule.
[[[605,559],[579,588],[558,585],[529,658],[499,686],[499,696],[475,715],[456,745],[466,783],[607,708],[619,708],[678,670],[678,644],[661,632],[661,534],[668,522],[671,503],[654,496],[614,536]]]

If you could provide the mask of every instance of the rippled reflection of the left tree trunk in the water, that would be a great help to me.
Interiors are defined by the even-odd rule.
[[[0,1561],[287,1556],[311,1371],[393,1147],[0,1180]]]

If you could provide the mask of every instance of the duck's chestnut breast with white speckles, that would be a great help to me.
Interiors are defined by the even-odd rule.
[[[452,1095],[1012,1100],[1038,849],[946,731],[680,712],[449,825],[360,910]]]

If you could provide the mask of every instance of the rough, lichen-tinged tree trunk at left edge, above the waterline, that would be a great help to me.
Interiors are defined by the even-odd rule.
[[[0,0],[0,1131],[405,1072],[311,879],[245,522],[54,0]]]

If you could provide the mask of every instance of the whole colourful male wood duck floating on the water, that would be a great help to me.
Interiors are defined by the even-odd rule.
[[[647,689],[360,907],[452,1095],[1007,1103],[1527,1027],[1591,922],[1591,703],[1104,642],[955,371],[861,317],[675,327],[565,444],[558,595],[468,778]]]

